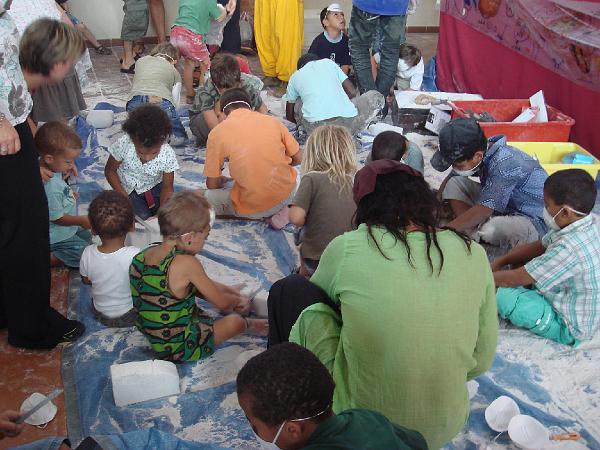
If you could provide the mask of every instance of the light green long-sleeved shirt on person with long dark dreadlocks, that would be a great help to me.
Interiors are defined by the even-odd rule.
[[[379,411],[440,448],[469,416],[467,380],[494,359],[498,319],[490,264],[480,245],[472,243],[469,253],[455,233],[441,231],[444,266],[438,275],[440,257],[432,245],[432,273],[424,233],[408,233],[412,266],[404,245],[383,229],[373,233],[389,259],[362,224],[327,246],[311,278],[341,306],[337,336],[335,320],[326,314],[311,324],[322,331],[318,336],[302,332],[310,307],[290,340],[330,368],[334,411]],[[307,315],[306,322],[311,319]]]

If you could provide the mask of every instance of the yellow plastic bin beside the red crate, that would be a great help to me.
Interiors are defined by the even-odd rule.
[[[549,175],[559,170],[582,169],[595,180],[600,170],[598,158],[572,142],[509,142],[509,145],[537,158]],[[594,158],[593,164],[564,164],[561,162],[565,156],[574,152],[591,156]]]

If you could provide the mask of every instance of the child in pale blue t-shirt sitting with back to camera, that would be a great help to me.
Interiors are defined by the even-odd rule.
[[[337,125],[355,136],[371,123],[385,102],[378,91],[357,95],[337,64],[312,53],[298,59],[298,70],[290,78],[286,96],[286,118],[302,125],[307,134],[321,125]]]

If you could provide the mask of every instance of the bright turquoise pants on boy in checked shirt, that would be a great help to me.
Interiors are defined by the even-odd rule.
[[[579,344],[562,317],[539,292],[522,287],[499,288],[496,301],[500,317],[513,325],[561,344]]]

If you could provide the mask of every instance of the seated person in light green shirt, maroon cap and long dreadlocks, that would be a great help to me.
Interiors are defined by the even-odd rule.
[[[289,340],[331,371],[334,411],[382,412],[440,448],[467,421],[466,382],[494,358],[490,265],[478,244],[437,227],[434,194],[402,163],[365,166],[354,198],[358,228],[329,244],[310,282],[273,286],[269,344],[286,340],[294,313],[322,302],[302,311]]]

